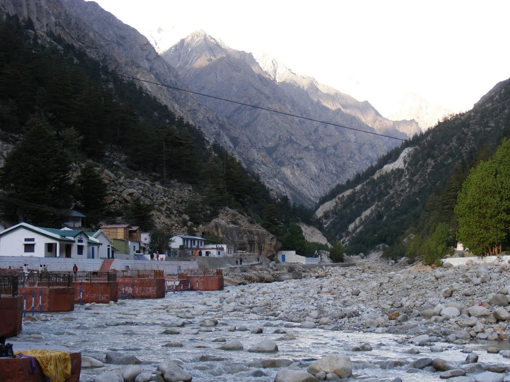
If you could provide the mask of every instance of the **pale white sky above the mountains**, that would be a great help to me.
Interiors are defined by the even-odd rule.
[[[144,35],[161,26],[171,44],[201,29],[264,51],[384,116],[406,93],[466,111],[510,77],[507,0],[96,2]]]

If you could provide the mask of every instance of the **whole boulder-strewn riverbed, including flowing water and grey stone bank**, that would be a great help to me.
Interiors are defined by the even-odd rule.
[[[508,264],[360,259],[302,276],[77,306],[18,340],[82,351],[83,381],[510,380]]]

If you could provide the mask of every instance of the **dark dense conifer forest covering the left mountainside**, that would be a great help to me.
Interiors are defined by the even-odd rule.
[[[192,185],[201,195],[186,209],[195,224],[227,206],[285,242],[292,222],[313,221],[313,211],[271,198],[256,174],[199,127],[62,39],[38,36],[30,20],[0,23],[0,130],[15,144],[0,174],[3,218],[11,224],[56,226],[71,207],[112,221],[122,213],[149,219],[151,206],[109,211],[104,187],[90,187],[99,176],[90,163],[109,151],[125,153],[129,170],[148,179]],[[73,164],[83,169],[71,180]]]

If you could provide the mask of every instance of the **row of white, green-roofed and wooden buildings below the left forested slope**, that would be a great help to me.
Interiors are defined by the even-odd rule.
[[[81,227],[82,214],[73,213],[61,229],[36,227],[19,223],[0,232],[0,256],[62,257],[73,259],[138,259],[151,260],[148,243],[150,233],[139,226],[107,224],[95,232]],[[78,228],[77,228],[78,227]],[[174,235],[170,251],[157,260],[173,257],[228,257],[234,256],[232,244],[206,244],[198,236]]]

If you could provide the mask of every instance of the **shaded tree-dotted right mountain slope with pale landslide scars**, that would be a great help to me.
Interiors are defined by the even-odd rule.
[[[335,187],[316,211],[328,240],[353,252],[394,244],[438,193],[455,167],[482,146],[494,149],[510,133],[510,80],[497,84],[471,111],[445,118],[416,141],[403,144],[347,185]],[[428,146],[423,146],[428,145]]]

